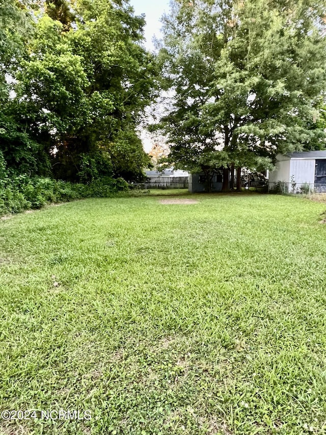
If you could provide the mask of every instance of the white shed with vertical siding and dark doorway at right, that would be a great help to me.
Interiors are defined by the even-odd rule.
[[[326,150],[278,154],[269,171],[269,189],[277,185],[287,192],[326,192]]]

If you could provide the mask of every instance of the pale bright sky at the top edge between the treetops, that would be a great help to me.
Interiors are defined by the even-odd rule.
[[[152,37],[155,35],[160,38],[160,17],[164,12],[169,11],[169,0],[129,0],[136,15],[145,14],[145,46],[149,50],[154,50]]]

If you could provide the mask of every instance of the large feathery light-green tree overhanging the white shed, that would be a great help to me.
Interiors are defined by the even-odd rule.
[[[178,0],[160,59],[174,105],[160,126],[170,159],[193,171],[268,167],[277,152],[324,145],[325,6],[282,0]],[[232,177],[232,175],[231,175]],[[238,176],[238,180],[239,180]],[[240,188],[240,186],[237,186]]]

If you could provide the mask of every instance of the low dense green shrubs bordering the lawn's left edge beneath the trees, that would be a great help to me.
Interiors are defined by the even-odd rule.
[[[0,162],[1,169],[1,162]],[[0,178],[0,214],[39,209],[50,202],[72,201],[90,197],[108,197],[126,191],[123,178],[101,178],[90,184],[76,184],[52,178],[18,175]]]

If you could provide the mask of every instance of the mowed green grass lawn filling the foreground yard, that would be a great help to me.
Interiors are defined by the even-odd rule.
[[[189,198],[0,221],[0,433],[326,433],[325,204]]]

